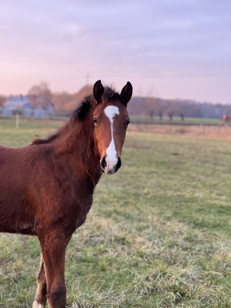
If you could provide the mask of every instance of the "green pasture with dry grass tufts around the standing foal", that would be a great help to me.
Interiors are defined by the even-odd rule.
[[[59,123],[0,120],[23,146]],[[231,307],[231,143],[128,130],[122,167],[102,176],[66,254],[67,307]],[[0,307],[31,307],[36,237],[0,235]]]

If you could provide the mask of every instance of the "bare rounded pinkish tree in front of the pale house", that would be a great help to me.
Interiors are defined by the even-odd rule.
[[[34,85],[28,91],[28,100],[32,107],[32,115],[37,107],[46,108],[47,100],[52,99],[51,90],[48,87],[48,83],[42,81],[39,85]]]

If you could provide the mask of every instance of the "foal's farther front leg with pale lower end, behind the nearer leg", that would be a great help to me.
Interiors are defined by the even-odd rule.
[[[43,256],[41,258],[37,283],[38,283],[37,294],[32,308],[45,308],[47,303],[47,281],[46,281],[46,272],[44,268]]]

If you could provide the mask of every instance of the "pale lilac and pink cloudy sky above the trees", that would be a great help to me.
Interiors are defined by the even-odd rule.
[[[101,79],[135,95],[231,103],[231,1],[0,2],[0,94]]]

